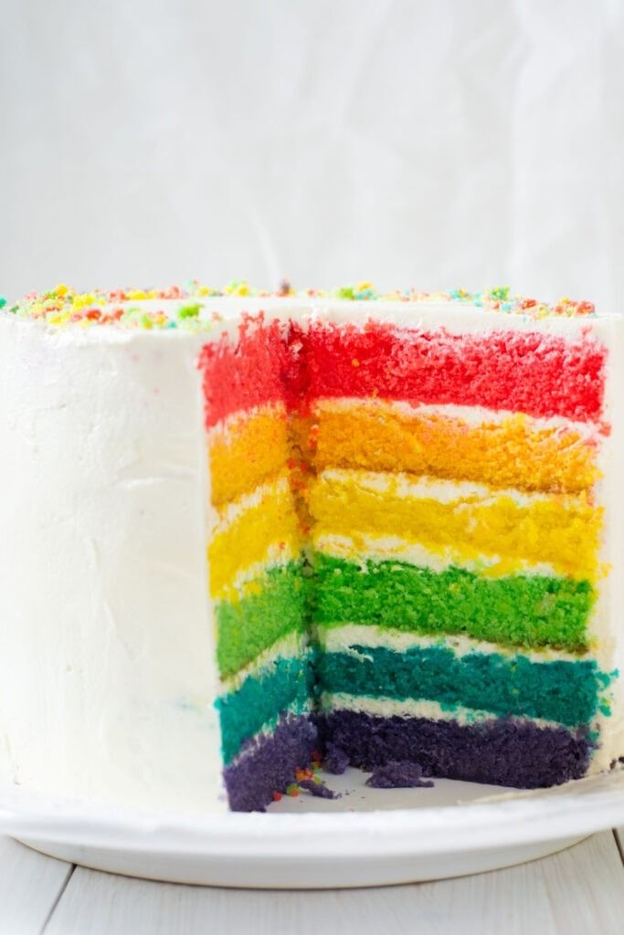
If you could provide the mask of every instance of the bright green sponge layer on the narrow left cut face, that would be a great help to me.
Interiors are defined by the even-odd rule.
[[[217,604],[217,661],[222,677],[234,675],[286,634],[305,630],[308,583],[302,563],[291,562],[268,568],[247,597]]]

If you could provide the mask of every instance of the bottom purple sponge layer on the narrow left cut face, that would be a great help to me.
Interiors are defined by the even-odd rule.
[[[264,811],[274,792],[285,792],[295,781],[297,768],[305,769],[318,749],[316,726],[307,715],[288,715],[272,734],[247,744],[224,772],[233,812]]]

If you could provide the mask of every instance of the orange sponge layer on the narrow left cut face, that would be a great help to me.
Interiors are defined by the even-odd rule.
[[[254,490],[288,458],[282,404],[237,413],[210,430],[210,497],[215,506]]]

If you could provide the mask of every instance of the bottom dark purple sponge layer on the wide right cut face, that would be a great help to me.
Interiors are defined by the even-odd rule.
[[[583,730],[496,719],[473,725],[337,711],[317,719],[320,736],[372,772],[392,761],[426,776],[520,789],[559,785],[585,774],[593,744]]]

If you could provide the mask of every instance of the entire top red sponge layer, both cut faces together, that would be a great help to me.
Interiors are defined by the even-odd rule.
[[[286,330],[288,332],[286,337]],[[392,324],[267,324],[247,317],[239,342],[207,345],[206,420],[283,400],[298,409],[318,397],[379,396],[412,403],[484,406],[598,421],[606,349],[589,335],[539,332],[451,335]]]

